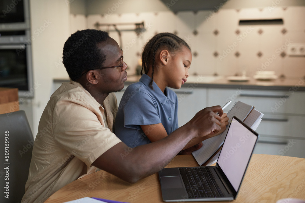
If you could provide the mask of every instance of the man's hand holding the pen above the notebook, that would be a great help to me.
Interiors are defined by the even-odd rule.
[[[219,115],[216,113],[218,112]],[[197,136],[213,135],[221,131],[221,106],[206,107],[199,111],[186,125],[190,130],[195,130]]]

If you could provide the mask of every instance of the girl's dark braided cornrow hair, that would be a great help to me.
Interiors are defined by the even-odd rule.
[[[153,75],[155,72],[155,58],[156,52],[160,47],[166,47],[168,51],[175,53],[176,51],[181,51],[183,46],[187,47],[189,50],[191,48],[188,44],[173,33],[159,33],[152,37],[145,45],[142,52],[142,70],[141,75],[143,75],[143,70],[145,74],[149,71],[149,65],[152,64],[152,79],[149,83],[149,87],[153,90],[152,82]]]

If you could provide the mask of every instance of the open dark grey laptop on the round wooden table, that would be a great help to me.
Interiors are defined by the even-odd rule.
[[[163,201],[231,201],[238,194],[259,135],[233,116],[216,166],[159,171]]]

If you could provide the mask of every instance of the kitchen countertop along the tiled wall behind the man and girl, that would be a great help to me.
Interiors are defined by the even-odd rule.
[[[125,84],[138,82],[140,75],[127,75]],[[70,82],[67,78],[56,78],[53,82]],[[305,91],[305,78],[287,78],[274,80],[257,80],[250,78],[246,82],[232,82],[226,76],[190,75],[182,87],[207,87],[207,88],[243,88],[265,90],[298,90]]]

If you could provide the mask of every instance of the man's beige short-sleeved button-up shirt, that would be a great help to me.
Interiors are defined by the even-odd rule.
[[[100,105],[78,82],[64,82],[39,121],[22,202],[44,202],[66,184],[95,172],[91,164],[121,142],[112,132],[116,113],[113,93]]]

